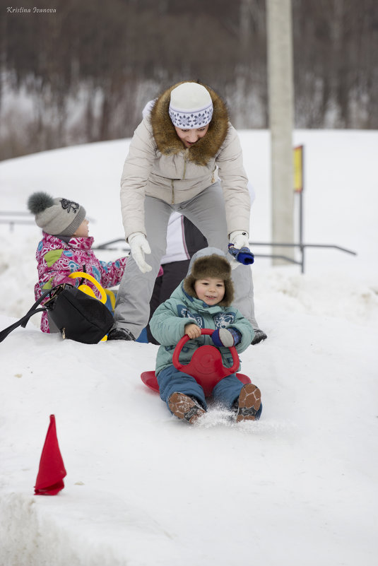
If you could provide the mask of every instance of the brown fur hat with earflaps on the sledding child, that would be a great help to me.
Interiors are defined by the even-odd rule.
[[[196,283],[198,279],[207,277],[222,279],[224,281],[225,295],[223,299],[218,302],[218,305],[220,307],[230,307],[234,300],[234,285],[231,279],[231,266],[224,255],[211,254],[195,259],[191,265],[190,272],[182,284],[185,293],[198,299],[196,291],[194,290],[194,283]]]

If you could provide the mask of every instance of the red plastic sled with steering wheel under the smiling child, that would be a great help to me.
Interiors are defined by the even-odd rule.
[[[213,334],[211,329],[201,329],[201,334]],[[211,395],[215,385],[232,373],[239,366],[239,356],[237,355],[237,350],[233,346],[229,348],[232,355],[232,367],[225,367],[222,362],[222,355],[218,348],[215,346],[210,346],[206,344],[205,346],[200,346],[194,352],[189,364],[182,364],[179,362],[179,354],[181,353],[182,347],[187,341],[190,340],[189,336],[185,335],[179,340],[175,351],[173,353],[172,363],[180,372],[187,373],[196,379],[196,382],[201,385],[205,396]],[[247,375],[242,373],[237,373],[237,379],[243,384],[251,383],[251,379]],[[156,379],[155,372],[143,372],[141,374],[141,380],[153,391],[159,391],[158,380]]]

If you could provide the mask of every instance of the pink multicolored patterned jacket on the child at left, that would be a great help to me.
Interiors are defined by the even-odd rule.
[[[35,284],[35,300],[47,290],[60,285],[69,283],[70,285],[81,284],[78,278],[71,279],[69,274],[73,271],[85,271],[92,275],[104,288],[110,288],[121,282],[124,274],[126,257],[116,261],[100,261],[95,257],[92,250],[93,237],[72,237],[67,244],[56,236],[42,232],[42,240],[38,244],[35,257],[37,258],[38,283]],[[96,297],[99,292],[95,285],[88,280],[84,281],[93,289]],[[42,313],[41,319],[42,332],[49,332],[49,321],[47,313]]]

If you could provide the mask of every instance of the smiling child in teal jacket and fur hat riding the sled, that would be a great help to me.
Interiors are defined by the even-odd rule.
[[[230,346],[241,353],[254,337],[252,324],[232,307],[233,294],[228,259],[220,249],[207,247],[194,254],[187,277],[150,320],[151,332],[161,344],[155,367],[160,397],[174,415],[189,423],[206,412],[206,399],[194,377],[172,364],[173,352],[187,334],[191,339],[182,349],[180,362],[189,363],[196,348],[212,344],[219,348],[223,365],[231,367]],[[212,336],[201,335],[204,328],[215,331]],[[253,384],[243,385],[235,373],[220,379],[212,396],[226,408],[235,409],[237,422],[261,415],[261,392]]]

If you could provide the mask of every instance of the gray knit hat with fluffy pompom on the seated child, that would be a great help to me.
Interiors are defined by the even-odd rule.
[[[85,218],[85,208],[75,201],[54,199],[47,193],[33,193],[28,208],[35,215],[35,223],[47,234],[71,237]]]

